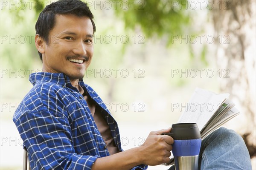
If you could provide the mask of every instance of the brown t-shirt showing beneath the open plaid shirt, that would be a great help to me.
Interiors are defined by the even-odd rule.
[[[87,93],[84,93],[83,96],[87,102],[90,112],[93,115],[93,119],[98,127],[99,133],[101,134],[102,138],[106,143],[109,154],[113,155],[115,153],[118,153],[119,150],[116,147],[113,137],[111,136],[109,126],[101,113],[100,106],[96,105],[96,102]]]

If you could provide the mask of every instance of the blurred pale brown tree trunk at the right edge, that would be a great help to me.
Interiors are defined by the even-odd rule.
[[[222,73],[226,71],[220,88],[231,94],[236,105],[240,105],[240,114],[246,117],[236,126],[240,128],[251,158],[256,156],[255,4],[254,0],[214,0],[219,8],[212,10],[216,37],[223,38],[216,43],[217,65]]]

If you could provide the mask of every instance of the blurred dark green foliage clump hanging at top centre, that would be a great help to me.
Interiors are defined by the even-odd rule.
[[[189,24],[189,14],[185,8],[180,9],[186,0],[128,0],[127,3],[129,8],[120,5],[115,10],[125,27],[134,30],[140,26],[148,38],[166,36],[168,45],[172,44],[172,35],[182,34],[183,27]]]

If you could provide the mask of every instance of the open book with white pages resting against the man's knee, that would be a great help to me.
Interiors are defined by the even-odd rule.
[[[215,94],[196,88],[186,110],[177,123],[197,123],[204,139],[212,131],[239,114],[235,104],[227,99],[229,94]],[[165,165],[174,164],[174,160]]]

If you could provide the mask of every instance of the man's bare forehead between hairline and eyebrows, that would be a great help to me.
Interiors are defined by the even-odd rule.
[[[93,24],[90,18],[86,16],[78,17],[73,14],[57,14],[55,15],[55,25],[51,32],[58,34],[64,31],[93,35]]]

